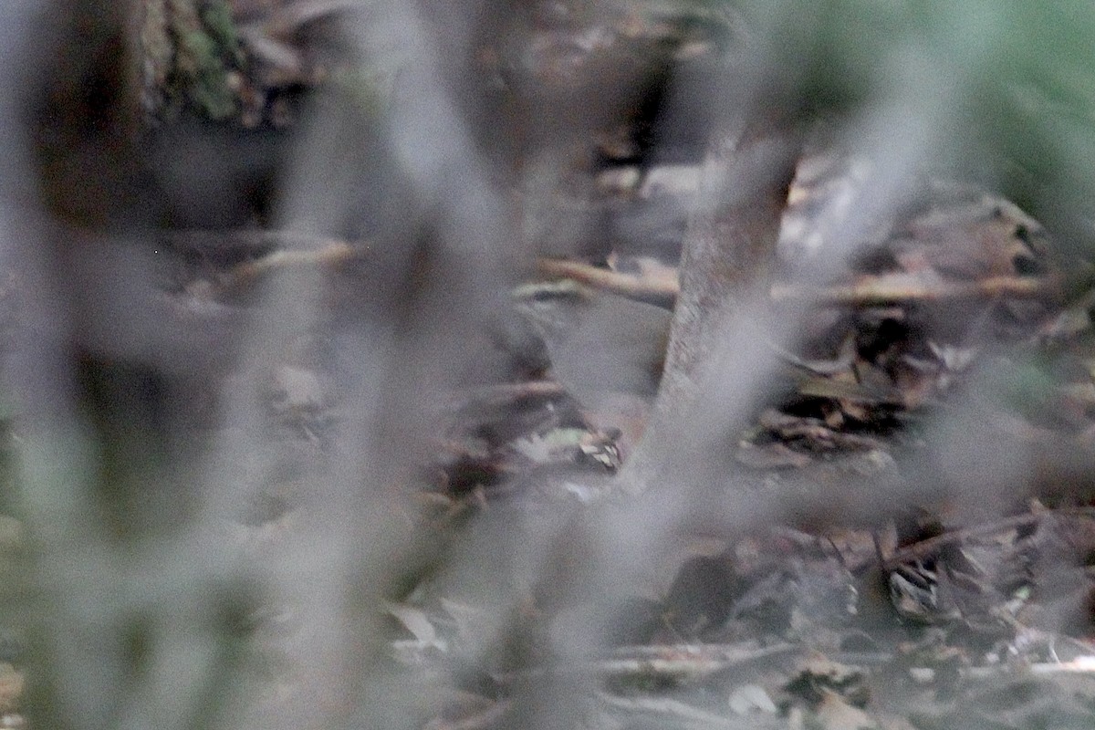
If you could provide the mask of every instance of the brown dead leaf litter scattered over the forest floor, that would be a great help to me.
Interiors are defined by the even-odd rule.
[[[347,3],[283,4],[275,21],[243,30],[245,47],[265,69],[260,88],[247,92],[260,100],[251,102],[256,119],[273,113],[277,89],[327,73],[283,44]],[[621,37],[675,32],[671,23],[648,23],[631,16]],[[564,61],[609,53],[611,37],[603,28],[575,34],[569,43],[578,55],[553,56],[544,83],[575,72]],[[687,218],[695,190],[659,190],[650,182],[671,175],[660,165],[635,165],[623,152],[604,166],[598,174],[635,173],[599,193],[621,219],[610,227],[607,253],[542,260],[541,279],[512,292],[514,320],[502,327],[510,331],[494,333],[511,356],[511,378],[470,385],[438,408],[436,457],[422,470],[420,500],[407,512],[424,541],[439,545],[430,557],[437,563],[466,548],[493,566],[507,546],[492,544],[483,515],[531,520],[595,503],[602,494],[596,486],[610,483],[641,438],[660,372],[648,366],[658,366],[667,333],[621,340],[609,329],[613,320],[586,313],[586,329],[564,350],[521,311],[527,302],[555,305],[557,287],[546,285],[563,279],[587,302],[624,298],[659,309],[650,318],[669,326],[684,229],[656,231],[652,257],[636,251],[643,237],[636,225],[647,229],[624,219],[642,222],[650,207]],[[809,255],[841,227],[831,216],[828,228],[818,225],[816,213],[854,207],[866,174],[857,161],[829,153],[799,165],[780,244],[784,274],[772,300],[816,305],[796,350],[777,352],[785,366],[777,397],[726,444],[736,461],[775,485],[785,473],[835,468],[839,485],[849,453],[879,470],[904,464],[926,453],[921,425],[955,409],[1035,449],[1052,442],[1070,453],[1090,450],[1090,266],[1057,258],[1046,232],[1014,205],[926,181],[922,199],[868,231],[869,245],[817,287]],[[209,251],[231,248],[211,233],[192,235]],[[172,286],[173,296],[185,294],[187,311],[207,316],[210,304],[235,304],[241,292],[286,268],[331,274],[369,255],[347,253],[341,242],[311,248],[320,253],[290,260],[292,247],[275,236],[224,259],[192,258],[174,275],[183,285]],[[580,316],[576,324],[556,312],[552,326],[577,327]],[[625,355],[633,360],[636,341],[653,387],[641,378],[592,383],[580,369],[572,371],[576,379],[565,374],[563,352],[581,360],[631,348]],[[616,367],[612,355],[601,369]],[[289,426],[287,440],[322,447],[338,403],[325,375],[281,364],[268,373],[264,393],[274,421]],[[279,485],[293,482],[275,471],[270,478]],[[274,523],[298,503],[290,496],[276,515],[258,521]],[[943,505],[887,515],[869,529],[838,521],[820,530],[718,535],[716,549],[683,551],[660,566],[658,580],[627,586],[625,600],[608,596],[604,606],[552,605],[552,591],[520,584],[516,568],[480,566],[494,575],[453,577],[430,566],[412,571],[405,594],[385,606],[397,624],[392,660],[407,672],[436,671],[428,686],[445,707],[426,727],[438,729],[509,727],[520,717],[514,697],[535,682],[584,691],[583,727],[1090,727],[1095,513],[1067,496],[1048,505],[1017,500],[1011,513],[980,523],[953,522],[961,514]],[[560,559],[590,560],[581,548]],[[510,581],[517,586],[499,587]],[[2,669],[7,708],[22,679]]]

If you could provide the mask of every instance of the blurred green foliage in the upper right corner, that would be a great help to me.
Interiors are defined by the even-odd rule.
[[[1040,0],[740,0],[763,88],[809,114],[906,109],[935,165],[976,175],[1095,245],[1095,5]],[[920,115],[919,118],[915,118]],[[895,119],[895,143],[906,129]]]

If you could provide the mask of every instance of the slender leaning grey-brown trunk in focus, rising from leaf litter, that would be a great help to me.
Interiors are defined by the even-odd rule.
[[[723,463],[711,451],[763,392],[766,344],[781,338],[765,304],[799,135],[779,114],[753,116],[708,148],[655,417],[625,475],[634,488]]]

